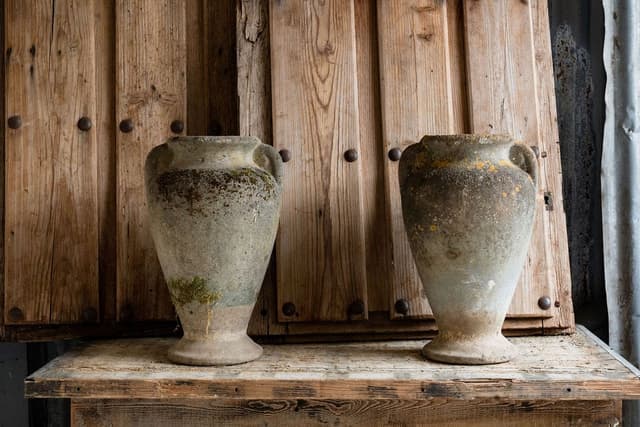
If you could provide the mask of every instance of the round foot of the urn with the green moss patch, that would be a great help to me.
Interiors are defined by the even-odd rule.
[[[213,366],[237,365],[259,358],[262,347],[247,334],[217,337],[205,340],[182,338],[169,349],[169,360],[183,365]]]

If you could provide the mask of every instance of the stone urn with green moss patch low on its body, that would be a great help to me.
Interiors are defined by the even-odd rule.
[[[254,360],[247,326],[278,228],[282,161],[253,137],[176,137],[147,156],[151,233],[184,336],[169,359]]]

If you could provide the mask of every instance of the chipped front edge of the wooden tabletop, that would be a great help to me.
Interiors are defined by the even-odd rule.
[[[40,371],[38,371],[40,372]],[[38,373],[36,372],[36,373]],[[40,372],[44,374],[46,372]],[[142,383],[142,384],[141,384]],[[640,398],[640,381],[589,381],[509,378],[474,380],[83,380],[25,379],[27,398],[74,399],[432,399],[627,400]]]

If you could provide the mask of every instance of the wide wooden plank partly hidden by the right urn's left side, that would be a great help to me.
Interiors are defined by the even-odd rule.
[[[459,44],[449,42],[449,2],[438,0],[378,1],[378,38],[382,97],[382,134],[385,152],[404,149],[425,134],[464,132],[462,91],[453,89],[459,68],[451,56],[459,56]],[[452,53],[453,52],[453,53]],[[456,67],[459,61],[453,63]],[[393,274],[389,310],[409,303],[405,317],[427,317],[431,308],[424,296],[413,261],[398,191],[398,162],[385,159],[385,182],[393,245]]]

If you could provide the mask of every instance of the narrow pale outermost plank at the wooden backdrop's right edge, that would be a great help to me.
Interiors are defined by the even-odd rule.
[[[562,164],[558,143],[558,119],[556,94],[554,89],[553,62],[551,56],[551,36],[549,30],[548,3],[531,1],[535,46],[536,91],[539,111],[540,176],[545,191],[554,200],[553,210],[544,210],[542,235],[544,253],[548,259],[547,280],[550,283],[549,296],[554,301],[551,319],[543,321],[546,330],[573,330],[573,302],[571,300],[571,270],[569,267],[569,247],[567,224],[562,200]]]

